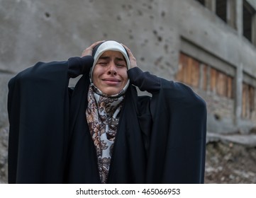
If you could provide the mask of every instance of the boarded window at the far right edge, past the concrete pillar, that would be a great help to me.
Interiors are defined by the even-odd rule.
[[[253,112],[255,112],[255,88],[243,83],[242,117],[251,119]]]

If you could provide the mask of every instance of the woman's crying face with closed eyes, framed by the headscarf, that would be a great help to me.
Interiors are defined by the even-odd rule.
[[[92,81],[106,95],[119,93],[128,81],[126,59],[121,52],[106,51],[99,57]]]

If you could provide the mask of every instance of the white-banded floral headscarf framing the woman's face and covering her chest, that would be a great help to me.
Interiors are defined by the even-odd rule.
[[[116,139],[116,132],[119,122],[119,112],[121,111],[126,92],[130,80],[128,79],[126,86],[115,95],[106,95],[99,88],[94,86],[92,81],[92,74],[94,66],[101,54],[112,50],[121,52],[126,59],[127,69],[130,69],[130,60],[126,49],[119,42],[108,40],[101,42],[94,47],[92,56],[94,57],[94,64],[90,71],[91,85],[88,91],[88,107],[86,110],[87,123],[91,133],[91,138],[94,141],[96,154],[99,166],[99,176],[102,183],[106,183],[108,179],[108,170],[111,164],[111,155],[113,144]]]

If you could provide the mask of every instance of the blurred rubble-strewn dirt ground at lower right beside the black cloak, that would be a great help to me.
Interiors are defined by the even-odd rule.
[[[255,184],[256,148],[221,141],[208,143],[204,182]]]

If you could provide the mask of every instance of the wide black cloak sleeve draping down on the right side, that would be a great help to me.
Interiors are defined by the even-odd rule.
[[[182,83],[160,78],[160,87],[150,101],[148,182],[203,183],[206,103]]]

